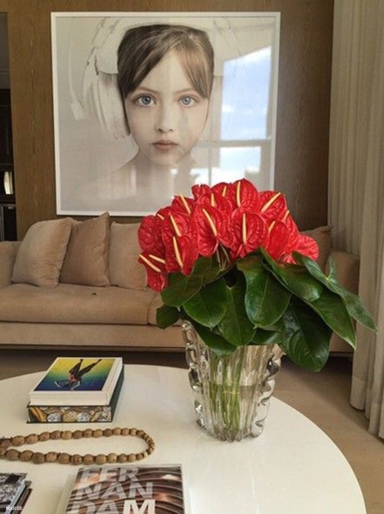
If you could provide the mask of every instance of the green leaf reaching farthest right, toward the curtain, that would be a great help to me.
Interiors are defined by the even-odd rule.
[[[305,266],[309,273],[321,282],[327,289],[336,293],[345,303],[348,314],[362,325],[376,331],[376,324],[370,316],[368,310],[364,307],[362,301],[357,295],[354,295],[348,289],[345,289],[336,278],[336,269],[333,260],[330,260],[330,274],[328,277],[322,272],[319,265],[305,255],[294,252],[294,258],[297,262]]]

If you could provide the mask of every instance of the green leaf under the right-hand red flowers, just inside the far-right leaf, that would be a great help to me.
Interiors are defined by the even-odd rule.
[[[303,266],[296,264],[279,265],[264,248],[260,248],[260,251],[268,268],[294,295],[308,302],[313,302],[320,297],[323,289],[322,285]]]

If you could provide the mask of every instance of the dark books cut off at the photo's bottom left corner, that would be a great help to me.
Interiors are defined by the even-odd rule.
[[[0,514],[22,510],[31,492],[27,473],[0,473]]]

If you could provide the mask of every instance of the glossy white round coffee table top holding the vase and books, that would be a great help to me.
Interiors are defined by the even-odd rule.
[[[312,421],[276,398],[260,437],[224,443],[196,425],[186,370],[127,365],[112,424],[27,424],[28,392],[40,376],[0,381],[0,436],[138,427],[156,442],[155,452],[140,464],[181,464],[193,514],[365,514],[359,484],[340,450]],[[118,436],[47,441],[30,448],[130,453],[140,451],[142,444],[135,437]],[[32,481],[25,514],[54,514],[68,475],[77,469],[0,461],[0,472],[27,472]]]

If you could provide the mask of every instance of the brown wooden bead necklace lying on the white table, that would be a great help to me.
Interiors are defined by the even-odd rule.
[[[98,455],[92,455],[87,453],[86,455],[79,455],[74,453],[59,453],[49,451],[48,453],[33,452],[31,450],[19,451],[16,448],[10,448],[11,446],[22,446],[24,444],[34,444],[40,441],[47,441],[48,439],[80,439],[81,437],[110,437],[111,435],[132,435],[144,439],[147,443],[147,449],[140,453],[108,453],[104,455],[99,453]],[[85,430],[54,430],[53,432],[42,432],[41,434],[29,434],[27,436],[16,435],[14,437],[3,437],[0,438],[0,458],[6,458],[8,461],[31,461],[34,464],[43,464],[44,462],[58,462],[60,464],[74,464],[78,466],[80,464],[106,464],[106,463],[126,463],[141,461],[155,450],[155,442],[150,435],[145,433],[143,430],[137,428],[106,428],[101,430],[97,428],[92,430],[87,428]]]

